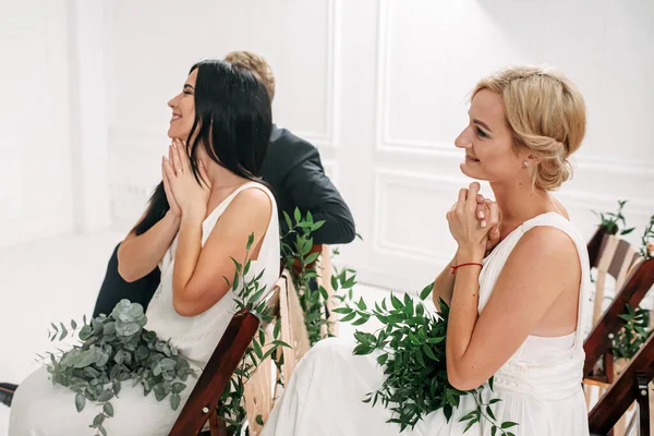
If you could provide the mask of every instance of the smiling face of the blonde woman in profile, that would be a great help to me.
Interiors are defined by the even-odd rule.
[[[525,152],[517,152],[513,134],[506,121],[501,96],[481,89],[472,98],[470,123],[455,141],[465,152],[461,171],[477,180],[502,183],[524,178],[530,180],[524,162],[531,165]]]

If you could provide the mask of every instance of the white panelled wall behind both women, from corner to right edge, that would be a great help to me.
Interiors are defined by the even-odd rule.
[[[559,194],[584,235],[590,209],[618,198],[642,228],[654,213],[653,21],[647,0],[108,2],[116,225],[134,222],[160,179],[166,101],[192,63],[249,49],[276,72],[276,121],[319,145],[349,201],[364,242],[341,259],[365,282],[420,289],[451,255],[444,215],[469,182],[453,138],[475,81],[507,63],[557,66],[585,95],[586,141]]]

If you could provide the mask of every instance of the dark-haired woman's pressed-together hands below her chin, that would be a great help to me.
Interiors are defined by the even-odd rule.
[[[199,161],[201,182],[195,179],[185,142],[177,138],[172,141],[168,157],[164,156],[161,170],[164,189],[171,210],[175,207],[180,216],[204,219],[211,192],[209,177],[203,162]]]

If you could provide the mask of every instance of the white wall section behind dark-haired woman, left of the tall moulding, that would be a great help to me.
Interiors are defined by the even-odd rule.
[[[334,144],[334,2],[131,1],[108,11],[109,146],[117,227],[132,226],[161,178],[167,101],[193,63],[261,52],[277,77],[275,119]],[[329,155],[324,155],[329,165]]]

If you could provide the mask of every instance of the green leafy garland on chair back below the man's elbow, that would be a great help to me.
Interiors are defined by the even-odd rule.
[[[330,323],[325,316],[329,294],[325,287],[318,286],[316,288],[316,278],[319,274],[316,261],[320,256],[320,252],[312,251],[314,246],[312,232],[323,227],[325,221],[314,222],[311,211],[303,216],[298,208],[294,210],[293,219],[286,211],[283,216],[289,230],[281,237],[282,264],[293,278],[300,305],[304,312],[304,324],[308,332],[308,341],[313,347],[323,339],[320,335],[323,326],[326,326],[327,331],[330,331]],[[292,239],[293,235],[294,240],[291,244],[284,242]],[[346,298],[351,299],[352,287],[356,284],[354,271],[350,268],[335,269],[330,284],[335,291],[334,299],[340,302],[344,301]],[[338,290],[344,292],[336,294]]]

